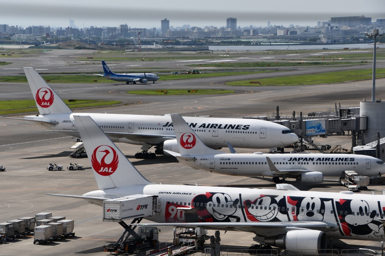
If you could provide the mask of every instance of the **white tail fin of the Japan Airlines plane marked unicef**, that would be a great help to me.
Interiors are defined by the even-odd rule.
[[[206,155],[222,154],[223,152],[211,149],[204,145],[194,130],[184,121],[180,114],[171,114],[172,125],[174,126],[176,141],[181,155]]]

